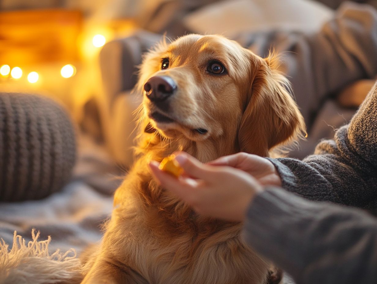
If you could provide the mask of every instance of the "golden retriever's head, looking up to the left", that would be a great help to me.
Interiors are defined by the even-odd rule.
[[[220,154],[268,156],[297,139],[302,115],[277,59],[261,58],[218,35],[186,35],[144,58],[144,115],[162,137]]]

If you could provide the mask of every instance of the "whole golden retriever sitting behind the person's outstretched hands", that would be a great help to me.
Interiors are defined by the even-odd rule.
[[[153,180],[148,163],[177,150],[202,162],[241,151],[268,156],[299,138],[303,118],[276,68],[276,57],[218,35],[186,35],[146,54],[138,159],[115,192],[82,283],[267,281],[270,264],[244,243],[242,224],[197,215]]]

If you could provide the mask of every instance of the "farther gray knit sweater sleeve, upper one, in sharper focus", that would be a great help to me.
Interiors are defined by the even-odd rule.
[[[320,142],[303,161],[269,160],[282,187],[310,200],[377,208],[377,83],[334,140]]]

